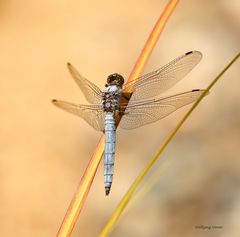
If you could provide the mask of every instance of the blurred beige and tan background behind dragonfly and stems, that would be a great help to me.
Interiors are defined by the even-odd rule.
[[[55,236],[101,136],[50,103],[86,103],[66,62],[101,88],[112,72],[128,77],[166,3],[0,1],[0,236]],[[239,12],[238,0],[180,1],[145,72],[199,50],[201,63],[167,94],[205,88],[239,52]],[[239,66],[188,119],[162,155],[173,162],[112,236],[240,236]],[[187,109],[118,130],[111,195],[104,195],[101,165],[72,236],[98,235]]]

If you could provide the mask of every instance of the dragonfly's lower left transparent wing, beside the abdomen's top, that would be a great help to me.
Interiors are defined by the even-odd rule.
[[[52,102],[57,107],[83,118],[97,131],[104,131],[105,113],[102,105],[77,105],[60,100]]]

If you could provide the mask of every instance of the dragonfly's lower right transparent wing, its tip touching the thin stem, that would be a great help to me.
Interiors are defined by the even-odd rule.
[[[148,99],[127,105],[120,127],[133,129],[154,123],[175,110],[196,101],[204,90],[192,90],[160,99]]]

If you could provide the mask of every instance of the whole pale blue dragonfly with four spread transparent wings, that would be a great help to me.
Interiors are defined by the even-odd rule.
[[[183,79],[201,60],[202,53],[190,51],[165,66],[124,84],[118,73],[107,77],[102,91],[83,77],[70,63],[70,74],[89,104],[52,100],[57,107],[84,119],[91,127],[105,134],[104,184],[109,195],[114,171],[116,128],[134,129],[154,123],[177,109],[196,101],[205,90],[194,89],[159,97]]]

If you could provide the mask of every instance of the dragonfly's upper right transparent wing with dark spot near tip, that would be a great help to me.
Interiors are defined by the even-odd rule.
[[[162,68],[125,84],[124,91],[133,91],[130,103],[138,99],[160,95],[170,89],[186,76],[201,58],[202,54],[198,51],[188,52]]]

